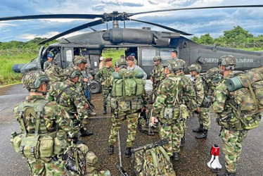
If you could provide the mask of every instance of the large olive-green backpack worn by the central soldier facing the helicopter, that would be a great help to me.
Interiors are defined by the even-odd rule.
[[[138,110],[143,107],[141,96],[145,92],[143,70],[126,69],[113,73],[113,89],[110,106],[119,111]]]

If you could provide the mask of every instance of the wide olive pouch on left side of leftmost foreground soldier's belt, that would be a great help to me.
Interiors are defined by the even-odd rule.
[[[20,153],[25,156],[25,158],[39,158],[39,136],[28,136],[23,137],[20,144]]]

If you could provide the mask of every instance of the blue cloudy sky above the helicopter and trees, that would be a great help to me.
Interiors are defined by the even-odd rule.
[[[40,14],[98,14],[112,13],[113,11],[136,13],[171,8],[188,8],[203,6],[236,6],[259,5],[262,0],[1,0],[0,18],[19,15]],[[188,11],[169,11],[162,13],[146,13],[134,15],[131,18],[151,23],[166,25],[177,30],[193,34],[191,37],[200,37],[210,33],[212,37],[222,36],[225,30],[232,30],[240,25],[255,37],[263,34],[263,8],[220,8]],[[99,19],[99,18],[98,18]],[[94,19],[94,20],[98,20]],[[0,21],[0,42],[23,41],[27,42],[34,37],[53,37],[78,25],[93,20],[79,19],[41,19],[41,20],[9,20]],[[111,27],[112,23],[108,23]],[[150,27],[152,30],[167,31],[160,27],[126,21],[126,27]],[[120,27],[124,27],[120,22]],[[105,30],[106,24],[96,25],[95,30]],[[64,37],[91,32],[87,28]]]

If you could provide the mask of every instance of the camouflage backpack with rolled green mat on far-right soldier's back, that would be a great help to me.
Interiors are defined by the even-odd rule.
[[[258,127],[263,111],[263,67],[253,68],[226,80],[226,87],[233,99],[229,106],[234,109],[243,127],[246,130]]]

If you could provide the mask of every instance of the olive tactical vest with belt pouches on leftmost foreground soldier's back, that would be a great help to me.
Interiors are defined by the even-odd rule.
[[[48,131],[45,122],[44,107],[48,101],[43,99],[35,103],[23,102],[18,106],[18,120],[20,121],[23,134],[12,133],[11,144],[17,153],[22,154],[25,158],[44,159],[49,162],[51,157],[63,153],[68,146],[67,135],[64,131],[56,132],[56,127]],[[27,132],[25,127],[25,118],[30,116],[30,120],[35,120],[34,133]]]

